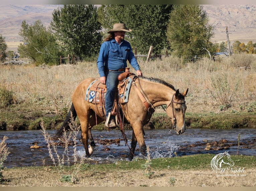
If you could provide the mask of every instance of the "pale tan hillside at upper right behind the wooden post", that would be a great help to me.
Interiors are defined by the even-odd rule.
[[[203,5],[209,16],[209,24],[215,25],[212,42],[229,40],[256,43],[256,5]]]

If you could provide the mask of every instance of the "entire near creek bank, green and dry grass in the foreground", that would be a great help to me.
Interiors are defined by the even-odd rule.
[[[113,164],[41,166],[5,169],[2,186],[255,186],[255,156],[231,155],[235,165],[218,176],[212,154],[173,158],[135,159]],[[225,173],[224,173],[225,174]]]

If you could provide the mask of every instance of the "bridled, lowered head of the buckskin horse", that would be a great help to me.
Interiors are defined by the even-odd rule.
[[[179,90],[176,90],[175,94],[172,95],[171,102],[166,107],[166,113],[171,118],[173,124],[172,127],[175,128],[177,134],[182,134],[185,132],[185,95],[187,95],[188,89],[182,94]]]

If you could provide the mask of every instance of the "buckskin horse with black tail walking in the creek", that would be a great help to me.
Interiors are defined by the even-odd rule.
[[[96,110],[95,103],[85,100],[86,91],[94,81],[99,82],[99,79],[88,78],[77,86],[72,95],[72,105],[67,118],[55,133],[55,138],[60,137],[65,130],[70,128],[71,119],[73,118],[74,121],[76,116],[78,116],[81,124],[81,137],[86,157],[91,156],[96,146],[91,133],[92,127],[106,120],[106,118],[102,117]],[[130,124],[132,127],[129,160],[132,160],[134,157],[137,143],[141,154],[146,156],[143,126],[149,122],[153,113],[150,112],[150,110],[154,111],[155,107],[166,105],[165,111],[167,116],[171,118],[176,133],[182,134],[185,131],[186,104],[184,97],[188,92],[188,88],[183,93],[180,93],[178,89],[175,90],[171,84],[165,81],[144,76],[133,77],[132,84],[128,102],[119,104],[122,109],[124,123]],[[141,97],[144,97],[144,103]],[[145,106],[145,103],[147,103],[149,108]]]

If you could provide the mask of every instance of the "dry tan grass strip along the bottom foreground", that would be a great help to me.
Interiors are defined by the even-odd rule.
[[[256,186],[256,170],[246,169],[246,176],[217,176],[211,170],[154,170],[151,179],[144,170],[80,171],[76,184],[61,182],[61,173],[50,167],[7,169],[10,182],[2,186]]]

